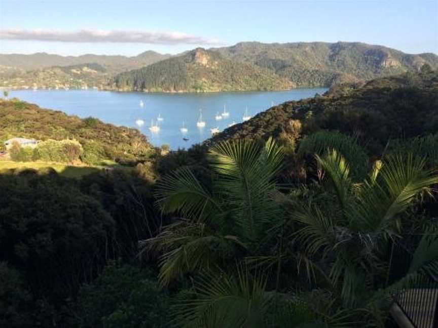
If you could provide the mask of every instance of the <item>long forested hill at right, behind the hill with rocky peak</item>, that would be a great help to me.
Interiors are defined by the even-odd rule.
[[[267,68],[298,87],[333,86],[338,83],[418,71],[424,64],[438,68],[435,54],[410,55],[363,43],[238,43],[214,49],[234,61]]]

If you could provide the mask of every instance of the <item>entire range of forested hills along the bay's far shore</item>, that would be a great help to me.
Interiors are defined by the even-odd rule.
[[[83,77],[75,71],[59,72],[64,66],[96,64],[105,72],[83,71]],[[125,91],[283,90],[360,83],[418,72],[424,64],[438,69],[438,56],[406,54],[358,42],[242,42],[231,47],[197,48],[174,56],[154,51],[133,57],[0,54],[0,80],[3,80],[0,87],[38,85],[53,88],[54,81],[62,79],[74,81],[64,85],[75,88],[98,85],[99,88]]]

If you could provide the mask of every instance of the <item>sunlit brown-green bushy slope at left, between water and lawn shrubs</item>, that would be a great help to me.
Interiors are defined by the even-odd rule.
[[[17,99],[0,101],[0,141],[14,137],[41,141],[75,139],[85,152],[91,149],[88,153],[92,157],[99,155],[99,159],[138,161],[154,153],[138,130],[105,124],[93,117],[81,119]]]

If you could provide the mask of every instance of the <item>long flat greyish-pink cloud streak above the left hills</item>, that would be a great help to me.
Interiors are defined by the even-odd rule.
[[[77,43],[139,43],[139,44],[192,44],[192,45],[220,45],[218,40],[190,35],[181,32],[148,32],[148,31],[104,31],[79,30],[74,32],[55,30],[0,30],[0,39],[7,40],[35,40],[49,42],[77,42]]]

